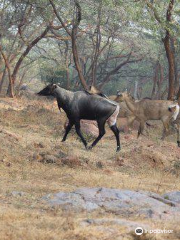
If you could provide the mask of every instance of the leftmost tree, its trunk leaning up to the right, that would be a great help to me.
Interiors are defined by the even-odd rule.
[[[36,15],[36,11],[31,3],[24,3],[23,1],[7,2],[6,7],[2,11],[2,19],[4,21],[9,19],[9,24],[4,23],[6,29],[4,29],[4,34],[1,36],[0,47],[1,55],[4,59],[4,71],[8,71],[8,95],[14,97],[16,77],[24,59],[31,49],[46,36],[50,30],[50,26],[45,22],[36,23],[34,26],[34,22],[39,19],[39,16]],[[10,9],[11,11],[14,9],[14,12],[11,12],[9,16]],[[29,28],[31,28],[31,25],[33,25],[33,28],[30,31]],[[42,32],[40,28],[42,28]],[[7,40],[9,37],[10,40]],[[9,47],[7,47],[7,41],[9,41]]]

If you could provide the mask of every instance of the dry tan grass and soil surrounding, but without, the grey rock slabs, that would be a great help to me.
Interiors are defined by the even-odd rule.
[[[41,201],[48,193],[78,187],[160,194],[180,189],[180,149],[173,136],[160,141],[158,123],[149,137],[137,140],[135,131],[121,134],[122,151],[116,154],[108,129],[92,151],[84,149],[74,131],[61,143],[64,121],[52,101],[0,99],[0,239],[179,239],[180,228],[173,222],[131,219],[174,230],[171,236],[137,238],[113,224],[103,231],[81,225],[87,218],[113,218],[112,213],[67,212]]]

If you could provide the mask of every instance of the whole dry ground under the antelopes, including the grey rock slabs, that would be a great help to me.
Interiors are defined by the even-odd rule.
[[[74,130],[61,142],[65,121],[45,98],[0,99],[0,239],[179,239],[176,136],[162,142],[153,123],[138,140],[121,133],[117,154],[107,127],[86,151]],[[92,142],[96,125],[82,127]],[[173,233],[137,236],[136,227]]]

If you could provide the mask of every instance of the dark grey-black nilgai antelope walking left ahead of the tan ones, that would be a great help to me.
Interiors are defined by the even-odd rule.
[[[105,123],[107,122],[116,137],[117,151],[120,150],[119,130],[116,126],[119,105],[116,102],[86,91],[67,91],[56,84],[46,86],[38,94],[54,96],[57,99],[59,109],[62,108],[66,112],[69,123],[62,139],[63,142],[66,140],[72,126],[75,125],[76,133],[81,138],[84,146],[91,149],[105,134]],[[98,123],[99,135],[89,147],[87,147],[86,140],[80,130],[81,119],[96,120]]]

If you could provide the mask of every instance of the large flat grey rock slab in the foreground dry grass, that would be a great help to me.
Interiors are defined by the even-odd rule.
[[[70,193],[49,194],[43,198],[52,206],[93,211],[102,209],[124,217],[180,219],[180,205],[145,191],[109,188],[80,188]]]

